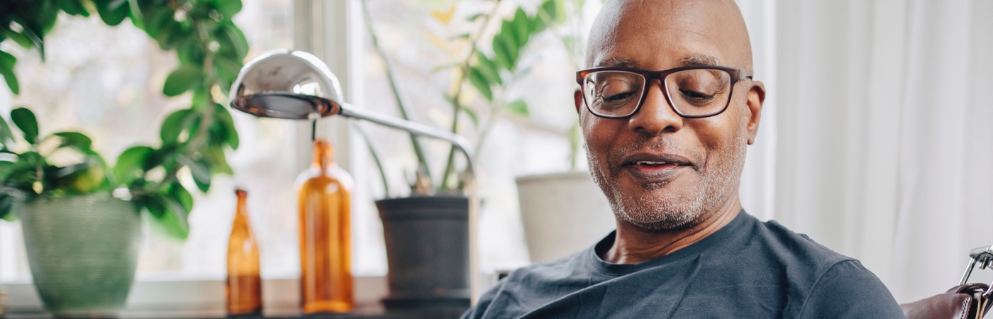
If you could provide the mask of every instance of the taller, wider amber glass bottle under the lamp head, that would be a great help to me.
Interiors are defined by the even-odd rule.
[[[300,288],[305,314],[349,312],[352,279],[352,177],[335,165],[331,143],[314,142],[314,162],[297,178]]]

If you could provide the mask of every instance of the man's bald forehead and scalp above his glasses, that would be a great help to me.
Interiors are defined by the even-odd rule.
[[[668,61],[636,59],[645,56]],[[586,65],[644,70],[721,65],[752,71],[752,44],[732,0],[610,0],[590,31]]]

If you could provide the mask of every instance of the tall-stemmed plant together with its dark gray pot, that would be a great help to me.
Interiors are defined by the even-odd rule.
[[[508,86],[529,71],[529,65],[523,61],[527,54],[534,54],[525,50],[530,39],[541,33],[552,33],[552,27],[561,24],[567,15],[565,1],[543,0],[530,13],[523,7],[517,7],[508,10],[513,12],[511,16],[501,17],[497,13],[506,12],[503,10],[507,8],[502,7],[504,2],[495,1],[488,3],[486,12],[466,18],[473,30],[458,30],[450,22],[459,4],[433,13],[434,19],[451,33],[435,36],[466,44],[468,50],[453,52],[451,61],[436,68],[436,71],[453,74],[453,84],[450,85],[453,89],[443,92],[452,109],[449,128],[455,133],[465,126],[476,128],[479,132],[476,147],[479,149],[498,116],[528,114],[528,106],[523,99],[507,100],[505,92]],[[400,115],[410,119],[413,109],[401,97],[403,94],[397,85],[399,80],[395,68],[379,45],[367,10],[365,14],[371,43],[383,58],[386,79],[389,80]],[[496,21],[499,23],[493,23]],[[499,29],[496,32],[488,30],[492,26]],[[492,52],[481,50],[491,44]],[[484,114],[489,116],[484,117]],[[464,122],[467,119],[469,123]],[[360,127],[359,134],[365,135]],[[445,169],[431,172],[425,148],[413,135],[410,141],[418,163],[410,185],[411,195],[376,201],[389,263],[387,281],[390,295],[383,302],[387,307],[426,304],[468,306],[469,276],[473,274],[468,272],[469,243],[466,239],[469,233],[469,202],[463,194],[464,172],[460,172],[456,165],[454,147],[445,154]],[[372,153],[379,165],[378,157],[374,151]],[[474,160],[478,159],[475,156]],[[386,184],[381,165],[379,170]],[[388,186],[386,194],[390,195]]]

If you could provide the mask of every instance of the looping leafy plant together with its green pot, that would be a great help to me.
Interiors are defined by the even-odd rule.
[[[207,191],[215,174],[231,174],[224,151],[238,146],[221,93],[230,86],[247,44],[231,22],[237,0],[14,1],[0,4],[0,40],[38,50],[60,12],[98,14],[114,26],[125,18],[180,67],[163,93],[193,92],[190,107],[161,126],[157,146],[134,146],[111,164],[83,133],[44,133],[19,107],[0,118],[0,219],[22,220],[35,286],[59,317],[104,317],[123,308],[137,263],[140,212],[177,239],[189,235],[189,189]],[[0,75],[14,93],[17,59],[0,51]],[[219,102],[218,102],[219,101]],[[16,127],[17,130],[13,128]],[[181,183],[189,176],[192,183]],[[185,179],[185,178],[184,178]],[[192,185],[190,185],[192,184]]]

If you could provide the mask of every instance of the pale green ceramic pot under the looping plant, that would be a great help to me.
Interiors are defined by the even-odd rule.
[[[57,317],[113,317],[138,260],[141,218],[127,201],[95,194],[17,208],[35,288]]]

